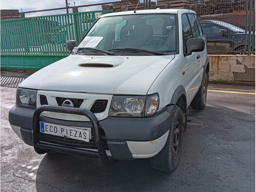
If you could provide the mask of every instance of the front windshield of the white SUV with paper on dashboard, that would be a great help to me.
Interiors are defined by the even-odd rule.
[[[174,14],[100,18],[78,45],[78,48],[90,47],[104,51],[111,49],[125,51],[124,48],[134,48],[176,52],[175,18]]]

